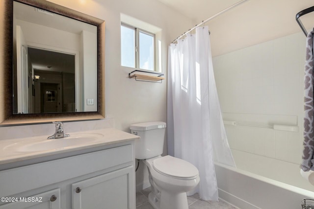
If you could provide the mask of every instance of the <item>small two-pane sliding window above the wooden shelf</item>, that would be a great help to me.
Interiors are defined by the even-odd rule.
[[[121,65],[155,70],[155,34],[121,23]]]

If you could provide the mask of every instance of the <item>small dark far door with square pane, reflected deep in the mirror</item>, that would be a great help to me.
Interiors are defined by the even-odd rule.
[[[41,112],[42,113],[57,113],[60,112],[60,85],[53,83],[41,83]]]

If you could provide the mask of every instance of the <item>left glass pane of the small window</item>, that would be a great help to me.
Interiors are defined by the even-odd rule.
[[[135,68],[135,29],[121,25],[121,65]]]

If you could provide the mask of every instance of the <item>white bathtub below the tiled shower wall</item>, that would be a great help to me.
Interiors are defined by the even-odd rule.
[[[232,150],[236,168],[215,163],[219,197],[240,209],[302,209],[314,186],[297,164]]]

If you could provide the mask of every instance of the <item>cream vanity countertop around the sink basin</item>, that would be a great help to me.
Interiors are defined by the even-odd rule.
[[[88,135],[88,134],[99,135],[101,136],[101,139],[97,139],[96,141],[87,140],[86,143],[84,142],[81,144],[77,144],[75,146],[52,148],[52,149],[47,149],[44,151],[42,150],[17,151],[17,150],[12,149],[12,147],[13,146],[17,147],[19,144],[23,144],[23,145],[27,145],[27,143],[31,144],[34,140],[36,141],[38,140],[67,140],[67,138],[47,139],[47,137],[49,137],[49,134],[47,134],[45,136],[37,136],[37,137],[29,137],[29,138],[3,139],[3,140],[0,140],[0,165],[139,139],[138,136],[135,136],[130,133],[126,133],[126,132],[123,132],[114,128],[81,131],[81,132],[73,132],[73,133],[65,133],[65,134],[70,134],[74,136],[79,136],[80,134],[81,135]]]

